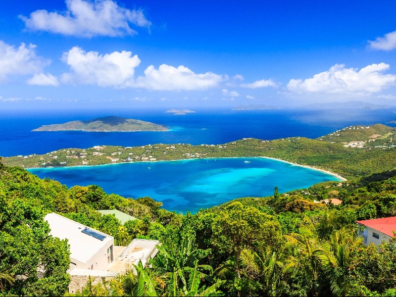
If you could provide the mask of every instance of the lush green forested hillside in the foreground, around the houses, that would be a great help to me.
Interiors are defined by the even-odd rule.
[[[197,214],[126,199],[95,185],[68,189],[20,167],[0,167],[0,294],[63,296],[65,241],[43,218],[56,212],[110,234],[162,243],[151,268],[137,267],[83,296],[394,296],[396,243],[364,247],[355,221],[396,215],[395,171],[326,182],[266,198],[241,198]],[[314,203],[339,198],[343,203]],[[137,217],[123,226],[95,210]],[[39,268],[39,269],[38,269]]]

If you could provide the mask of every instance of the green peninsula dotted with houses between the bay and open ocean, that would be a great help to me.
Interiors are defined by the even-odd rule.
[[[323,169],[349,179],[394,169],[395,149],[396,128],[376,124],[346,127],[318,139],[245,138],[221,145],[154,144],[141,147],[64,148],[42,155],[6,157],[3,163],[8,166],[37,168],[195,158],[270,157]]]

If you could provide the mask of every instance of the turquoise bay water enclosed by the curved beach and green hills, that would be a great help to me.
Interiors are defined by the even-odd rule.
[[[247,161],[247,162],[245,162]],[[196,213],[241,197],[265,197],[307,188],[333,175],[266,158],[218,158],[137,162],[104,166],[35,168],[40,178],[67,187],[98,185],[107,193],[127,198],[151,197],[163,208]]]

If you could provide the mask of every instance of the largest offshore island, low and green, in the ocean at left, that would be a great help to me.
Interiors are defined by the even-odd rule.
[[[64,124],[44,125],[32,131],[72,130],[80,130],[86,132],[168,131],[168,129],[162,125],[117,116],[106,116],[87,121],[71,121]]]

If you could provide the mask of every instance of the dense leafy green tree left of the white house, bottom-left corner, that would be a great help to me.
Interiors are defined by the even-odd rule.
[[[3,283],[6,295],[62,296],[70,282],[66,241],[49,236],[44,213],[22,199],[0,195],[0,271],[14,283]]]

